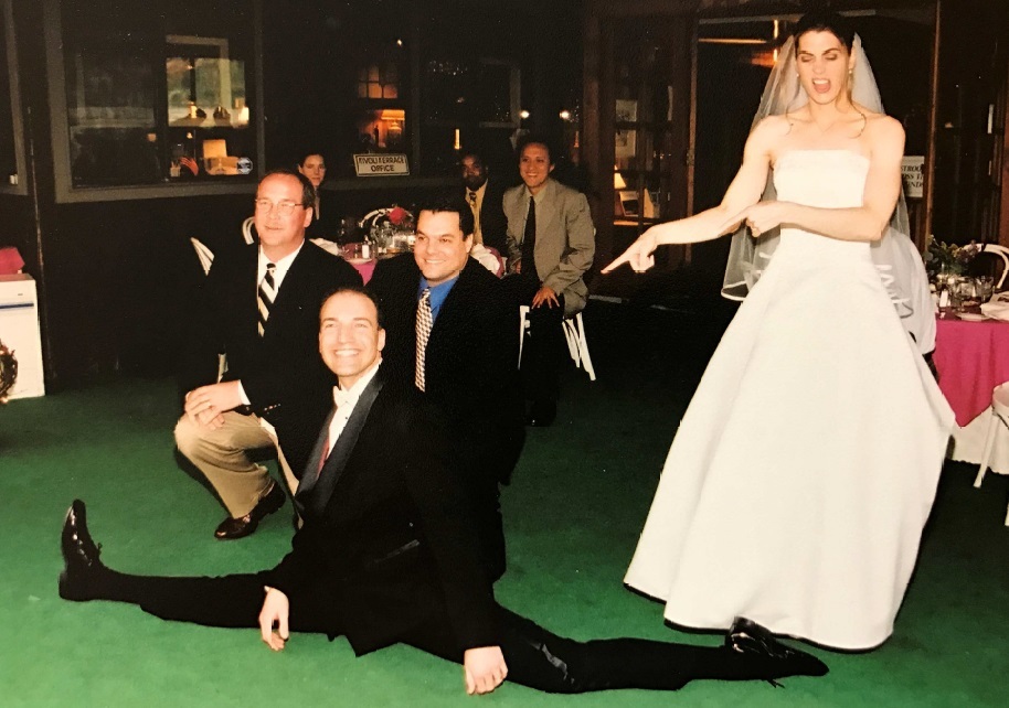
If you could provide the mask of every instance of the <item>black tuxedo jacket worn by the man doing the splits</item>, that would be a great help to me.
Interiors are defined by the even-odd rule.
[[[444,626],[456,658],[499,644],[496,604],[469,524],[468,500],[449,463],[438,411],[382,364],[315,481],[328,425],[307,459],[296,496],[304,526],[291,551],[264,576],[299,607],[329,616],[312,624],[346,634],[360,654]],[[299,599],[310,598],[309,602]]]

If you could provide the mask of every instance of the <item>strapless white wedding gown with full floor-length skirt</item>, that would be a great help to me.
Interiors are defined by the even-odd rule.
[[[861,204],[867,158],[800,150],[778,199]],[[869,244],[783,228],[669,451],[625,581],[666,618],[846,650],[890,636],[954,425]]]

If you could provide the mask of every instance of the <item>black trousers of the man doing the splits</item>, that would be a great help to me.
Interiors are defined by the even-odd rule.
[[[140,605],[163,620],[206,626],[258,627],[266,573],[220,578],[127,576],[105,571],[97,599]],[[290,597],[291,632],[340,634],[339,619],[325,592]],[[692,678],[746,678],[732,652],[636,639],[575,642],[544,630],[498,605],[500,646],[508,680],[550,693],[610,688],[672,690]],[[448,618],[406,632],[400,640],[424,652],[461,663]]]

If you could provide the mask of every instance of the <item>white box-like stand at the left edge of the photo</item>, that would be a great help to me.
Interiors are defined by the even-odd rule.
[[[8,397],[44,396],[39,299],[31,276],[0,276],[0,342],[18,360],[18,379]]]

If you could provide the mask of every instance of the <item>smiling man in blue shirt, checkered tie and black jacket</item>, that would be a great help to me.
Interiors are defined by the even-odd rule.
[[[389,375],[443,411],[472,500],[489,576],[504,571],[499,484],[524,442],[518,310],[469,257],[474,216],[458,195],[422,204],[413,254],[379,262],[369,290],[385,314]]]

